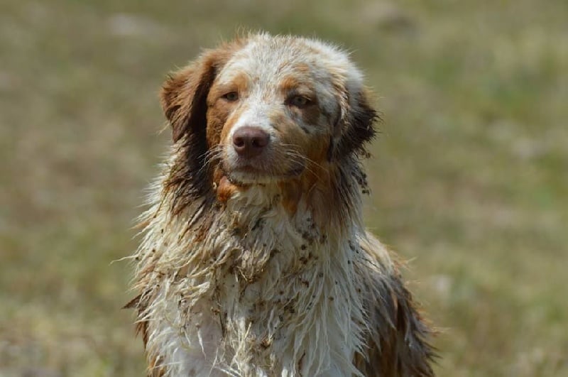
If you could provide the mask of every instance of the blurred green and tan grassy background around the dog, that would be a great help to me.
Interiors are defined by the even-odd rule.
[[[440,376],[568,376],[568,2],[3,0],[0,376],[142,376],[121,307],[168,71],[239,30],[343,45],[383,111],[366,224]]]

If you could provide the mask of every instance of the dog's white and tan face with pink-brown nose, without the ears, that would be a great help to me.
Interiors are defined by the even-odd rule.
[[[339,119],[330,77],[317,77],[327,72],[303,55],[283,58],[286,45],[265,48],[235,53],[207,96],[209,148],[234,182],[288,180],[322,163]]]

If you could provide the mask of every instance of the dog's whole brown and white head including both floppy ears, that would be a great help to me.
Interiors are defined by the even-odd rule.
[[[207,50],[160,96],[193,195],[223,177],[241,186],[297,179],[364,152],[375,133],[359,70],[305,38],[252,35]]]

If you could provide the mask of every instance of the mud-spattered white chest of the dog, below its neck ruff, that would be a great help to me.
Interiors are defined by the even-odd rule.
[[[229,256],[209,274],[208,293],[183,310],[186,351],[173,362],[241,376],[351,374],[359,316],[349,261],[337,250],[345,245],[309,214],[298,219],[270,211],[248,226],[231,219],[205,243]]]

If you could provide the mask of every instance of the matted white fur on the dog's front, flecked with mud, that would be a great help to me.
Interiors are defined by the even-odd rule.
[[[352,262],[359,258],[359,263],[366,263],[362,260],[366,256],[356,256],[349,241],[358,243],[366,239],[366,233],[358,224],[351,224],[343,229],[346,234],[338,229],[337,234],[327,234],[326,241],[315,241],[310,246],[302,237],[302,232],[312,231],[310,212],[300,209],[290,221],[280,204],[273,205],[276,195],[276,187],[251,187],[245,194],[237,194],[214,224],[219,231],[204,241],[195,241],[194,236],[185,233],[183,218],[172,220],[159,209],[151,209],[160,216],[149,226],[141,253],[155,249],[160,254],[165,247],[185,250],[182,256],[173,253],[177,258],[174,260],[162,254],[156,271],[162,264],[190,268],[179,283],[156,290],[157,297],[143,316],[151,321],[148,350],[164,356],[162,364],[169,366],[171,376],[360,375],[352,359],[363,346],[360,333],[365,314],[356,293],[359,277],[354,275]],[[271,209],[260,213],[267,207]],[[262,229],[250,231],[242,239],[232,235],[235,226],[247,226],[250,219],[257,218],[266,221]],[[168,239],[160,233],[164,227],[169,229]],[[180,234],[185,236],[178,238]],[[307,266],[301,266],[302,256],[297,255],[302,245],[303,256],[318,256]],[[279,252],[271,258],[274,249]],[[197,261],[192,261],[192,256],[202,253],[217,259],[207,267],[195,266]],[[235,278],[239,275],[223,272],[237,253],[249,253],[252,270],[263,266],[259,280],[247,283],[245,278]],[[141,257],[151,258],[148,254]],[[155,280],[168,282],[157,276]],[[216,280],[221,287],[217,296]],[[180,304],[181,296],[185,302]],[[281,305],[271,304],[279,298],[283,300]],[[296,300],[295,310],[305,311],[279,317],[284,300],[290,299]],[[259,300],[266,305],[258,307]],[[212,315],[217,301],[227,311],[224,337],[218,318]],[[251,349],[258,347],[261,337],[266,338],[266,344],[273,343],[266,354]],[[252,365],[256,366],[254,370]]]

